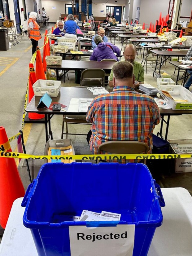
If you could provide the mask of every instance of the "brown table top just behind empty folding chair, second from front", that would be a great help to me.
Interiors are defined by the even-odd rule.
[[[112,69],[115,62],[112,61],[85,61],[85,60],[62,60],[61,66],[47,65],[50,69],[84,70],[87,68],[102,68],[103,70]]]

